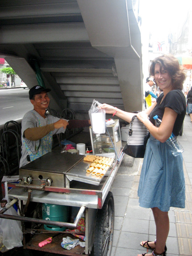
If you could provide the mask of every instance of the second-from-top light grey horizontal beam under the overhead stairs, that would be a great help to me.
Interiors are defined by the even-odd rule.
[[[0,27],[0,43],[37,43],[89,40],[84,23],[53,23]],[[14,35],[14,36],[13,36]]]

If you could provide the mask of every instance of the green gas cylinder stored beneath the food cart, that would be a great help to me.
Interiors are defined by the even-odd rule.
[[[58,222],[68,222],[69,206],[58,204],[42,204],[42,217],[44,220],[53,220]],[[59,227],[44,224],[44,229],[53,231],[65,231],[66,227]]]

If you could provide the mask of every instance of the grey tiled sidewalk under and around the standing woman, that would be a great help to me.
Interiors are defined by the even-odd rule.
[[[186,182],[185,209],[170,208],[170,231],[166,255],[192,256],[192,124],[186,115],[182,136],[183,167]],[[131,162],[131,159],[129,159]],[[113,182],[115,226],[111,256],[137,256],[147,252],[142,240],[155,239],[155,222],[151,209],[139,207],[137,189],[143,159],[135,159],[132,167],[122,163]],[[149,250],[149,252],[151,252]]]

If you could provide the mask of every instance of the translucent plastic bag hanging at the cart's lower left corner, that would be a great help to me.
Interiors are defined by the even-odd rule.
[[[7,200],[9,203],[9,199]],[[2,209],[0,207],[0,209]],[[10,207],[4,214],[17,216],[17,212],[13,207]],[[0,218],[0,226],[2,231],[2,243],[6,249],[10,250],[14,247],[22,245],[23,233],[21,230],[21,222],[19,220],[2,219]]]

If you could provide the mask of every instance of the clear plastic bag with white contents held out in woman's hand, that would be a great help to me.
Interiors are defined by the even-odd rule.
[[[93,103],[91,105],[91,108],[89,110],[89,118],[91,120],[91,127],[93,130],[93,133],[101,134],[105,133],[105,110],[102,108],[98,108],[101,103],[93,100]]]

